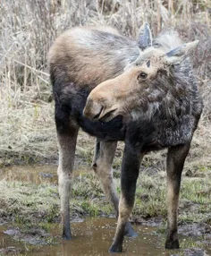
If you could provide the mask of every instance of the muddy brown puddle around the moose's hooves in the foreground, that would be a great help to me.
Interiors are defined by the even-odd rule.
[[[211,250],[205,248],[191,249],[195,241],[187,236],[181,236],[181,249],[166,251],[164,249],[165,235],[157,235],[157,227],[135,226],[139,236],[135,239],[126,239],[121,254],[107,252],[112,243],[115,231],[114,218],[87,218],[85,221],[72,223],[73,238],[71,241],[62,241],[59,225],[52,225],[50,235],[55,237],[56,245],[42,247],[30,246],[27,243],[13,241],[11,235],[5,235],[6,226],[0,227],[0,255],[63,255],[63,256],[107,256],[107,255],[211,255]],[[195,246],[194,246],[195,247]],[[201,246],[200,246],[201,247]],[[1,254],[2,252],[2,254]],[[6,253],[7,254],[4,254]],[[8,254],[11,253],[11,254]],[[21,253],[21,254],[20,254]]]

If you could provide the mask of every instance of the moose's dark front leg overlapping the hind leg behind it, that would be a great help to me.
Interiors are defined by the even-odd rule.
[[[122,252],[125,226],[131,216],[131,211],[134,205],[140,160],[139,150],[132,149],[130,145],[127,145],[126,143],[122,160],[122,195],[119,203],[119,217],[114,236],[114,243],[110,247],[109,252]]]

